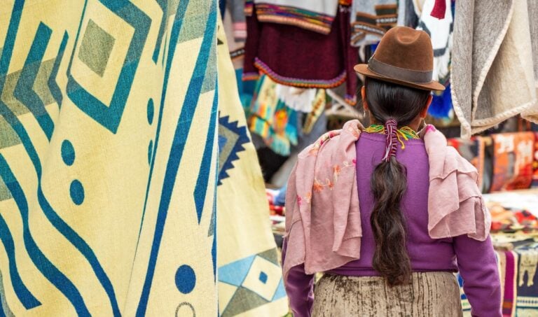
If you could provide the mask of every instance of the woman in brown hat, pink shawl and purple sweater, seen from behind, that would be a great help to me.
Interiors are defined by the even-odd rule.
[[[457,271],[472,314],[500,316],[476,169],[433,126],[420,129],[429,91],[444,90],[432,67],[425,32],[387,31],[354,68],[372,125],[347,122],[299,155],[282,250],[296,316],[461,316]],[[313,296],[315,272],[326,274]]]

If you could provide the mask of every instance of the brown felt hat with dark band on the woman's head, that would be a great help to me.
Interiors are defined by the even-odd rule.
[[[393,27],[381,38],[368,64],[354,66],[366,77],[422,90],[445,90],[432,80],[434,49],[425,31]]]

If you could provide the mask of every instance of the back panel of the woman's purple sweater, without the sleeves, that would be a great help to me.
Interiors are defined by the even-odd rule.
[[[404,141],[405,148],[398,148],[396,159],[407,171],[407,190],[401,200],[406,219],[408,255],[413,272],[457,271],[453,239],[432,239],[428,234],[428,156],[421,139]],[[361,258],[331,272],[346,271],[352,276],[377,276],[372,267],[375,240],[370,217],[373,210],[371,178],[373,169],[385,153],[385,135],[363,133],[357,141],[357,188],[361,210]],[[352,271],[352,272],[349,272]],[[352,273],[352,274],[350,274]]]

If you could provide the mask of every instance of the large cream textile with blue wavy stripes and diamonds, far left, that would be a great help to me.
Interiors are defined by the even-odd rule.
[[[219,314],[217,13],[1,2],[0,316]]]

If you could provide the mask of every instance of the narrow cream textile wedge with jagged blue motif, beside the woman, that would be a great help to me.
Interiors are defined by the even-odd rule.
[[[246,127],[221,20],[217,43],[219,313],[221,316],[284,316],[288,302],[268,222],[265,185]]]

